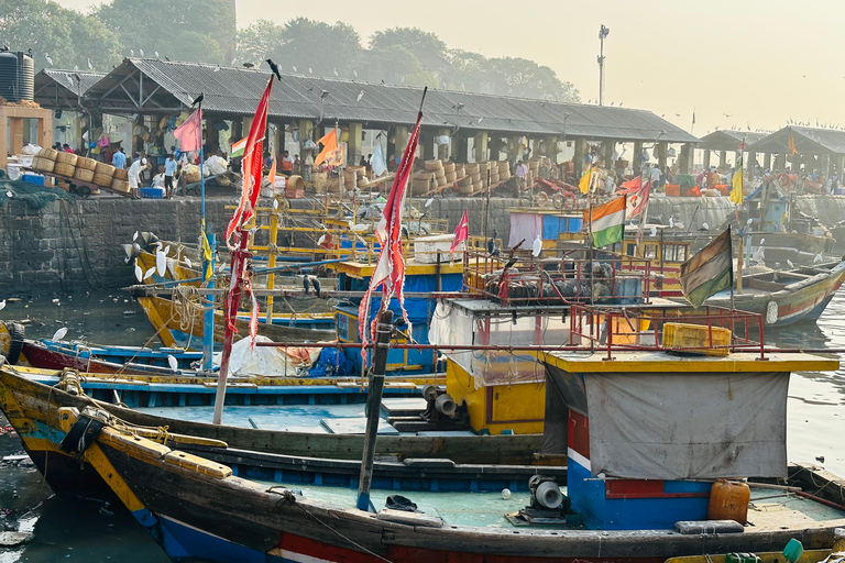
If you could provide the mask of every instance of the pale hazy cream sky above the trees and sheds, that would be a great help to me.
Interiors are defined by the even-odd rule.
[[[85,11],[101,1],[58,3]],[[843,0],[238,0],[239,27],[300,15],[345,21],[364,44],[376,30],[417,26],[449,47],[530,58],[584,101],[597,98],[603,23],[605,103],[648,109],[688,131],[694,108],[696,135],[778,129],[790,118],[845,128]]]

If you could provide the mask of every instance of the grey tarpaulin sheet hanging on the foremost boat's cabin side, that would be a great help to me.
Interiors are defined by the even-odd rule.
[[[787,476],[788,373],[585,375],[593,476]]]

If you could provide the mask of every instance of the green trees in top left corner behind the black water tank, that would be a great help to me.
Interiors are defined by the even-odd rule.
[[[51,66],[87,70],[88,59],[108,71],[120,60],[118,36],[99,20],[46,0],[0,0],[0,41],[12,51],[32,48],[36,71]]]

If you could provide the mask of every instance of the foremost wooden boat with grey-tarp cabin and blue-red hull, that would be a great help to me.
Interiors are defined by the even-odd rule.
[[[54,404],[46,418],[61,426],[57,437],[95,428],[84,443],[65,440],[66,448],[107,481],[174,561],[645,563],[776,551],[794,537],[809,550],[833,547],[834,530],[845,523],[845,486],[811,465],[787,465],[781,417],[790,372],[835,369],[838,362],[803,354],[766,354],[767,361],[759,362],[759,353],[748,352],[684,357],[660,350],[613,354],[615,362],[607,362],[604,353],[542,356],[549,377],[567,389],[563,408],[553,413],[569,428],[566,497],[558,488],[562,483],[544,476],[534,479],[533,495],[516,493],[504,499],[498,493],[414,493],[411,501],[422,512],[367,511],[351,508],[353,494],[345,487],[315,484],[298,490],[297,484],[237,474],[224,463],[182,451],[176,441],[171,449],[133,432],[131,426],[118,426],[97,409],[59,411]],[[569,385],[578,380],[582,387]],[[6,373],[2,382],[21,383]],[[619,393],[605,385],[610,383],[621,385]],[[635,393],[636,407],[619,411],[617,400],[640,383],[645,387]],[[672,400],[654,402],[652,385]],[[695,393],[689,393],[690,386]],[[728,394],[733,400],[707,402],[709,412],[695,420],[676,418],[679,409],[689,413],[690,401],[702,407],[700,391],[709,400]],[[766,409],[765,417],[754,408],[761,394],[772,399],[769,407],[778,405]],[[652,413],[660,424],[640,424],[636,437],[606,433],[613,428],[608,421],[630,423],[630,417],[640,416],[640,407],[647,406],[657,409]],[[17,408],[4,405],[12,415]],[[725,409],[743,424],[738,419],[736,424],[729,422]],[[674,431],[663,432],[663,423]],[[764,427],[762,433],[755,430]],[[617,456],[641,448],[637,440],[656,433],[662,438],[641,450],[643,455]],[[611,435],[615,438],[605,441]],[[748,435],[756,438],[743,441]],[[699,449],[689,448],[687,439]],[[651,457],[655,448],[663,451],[661,457]],[[711,450],[735,455],[714,457]],[[754,477],[754,483],[767,487],[761,490],[751,484],[750,494],[760,500],[748,505],[747,526],[706,519],[711,489],[718,488],[712,479],[728,474]],[[762,497],[772,494],[769,484],[781,477],[797,493],[766,501]],[[373,490],[370,498],[381,507],[388,495]],[[524,508],[529,503],[531,507]]]

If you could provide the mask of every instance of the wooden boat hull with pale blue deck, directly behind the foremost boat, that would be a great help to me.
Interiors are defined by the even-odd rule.
[[[128,424],[155,429],[151,432],[165,444],[178,442],[195,455],[232,463],[244,474],[261,474],[268,481],[349,484],[356,478],[366,398],[360,380],[233,377],[229,383],[224,423],[211,424],[216,378],[116,377],[6,365],[0,368],[0,408],[57,493],[97,496],[105,492],[89,465],[79,464],[59,448],[63,432],[55,409],[86,406],[101,408]],[[442,384],[442,378],[392,377],[385,385],[385,433],[377,446],[382,465],[376,471],[383,485],[397,490],[437,487],[438,483],[445,487],[451,483],[458,489],[524,488],[513,475],[536,472],[516,466],[535,463],[531,453],[539,448],[539,435],[398,432],[389,427],[388,415],[407,412],[408,399],[417,404],[420,389],[432,384]],[[184,438],[188,434],[193,438]],[[438,477],[416,478],[414,472],[420,464],[429,477]],[[514,467],[496,470],[491,464]],[[566,468],[557,473],[563,475]]]

